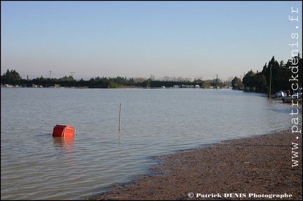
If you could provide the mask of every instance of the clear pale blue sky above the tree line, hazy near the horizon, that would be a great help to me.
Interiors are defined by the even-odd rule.
[[[1,75],[226,80],[297,49],[302,1],[1,1]]]

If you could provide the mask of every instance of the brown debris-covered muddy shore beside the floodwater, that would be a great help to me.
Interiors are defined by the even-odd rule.
[[[292,148],[297,158],[292,158]],[[86,199],[302,200],[302,134],[291,130],[222,141],[157,160],[159,165],[152,167],[157,174]],[[292,167],[292,160],[298,165]]]

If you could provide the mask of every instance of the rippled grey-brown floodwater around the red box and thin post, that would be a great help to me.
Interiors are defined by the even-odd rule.
[[[150,174],[152,156],[288,129],[290,112],[237,90],[1,88],[1,200],[84,200]]]

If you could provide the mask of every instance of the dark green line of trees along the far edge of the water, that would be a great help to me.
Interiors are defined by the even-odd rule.
[[[295,62],[294,62],[295,61]],[[294,76],[294,68],[297,70],[297,76]],[[265,63],[262,71],[254,72],[248,71],[243,78],[237,78],[236,76],[230,81],[207,80],[174,78],[155,80],[154,76],[150,78],[124,78],[117,76],[116,78],[95,77],[90,78],[88,81],[80,80],[76,81],[73,76],[64,76],[62,78],[34,78],[24,79],[15,70],[7,70],[6,73],[1,76],[1,85],[18,85],[20,87],[66,87],[66,88],[166,88],[173,87],[174,85],[199,85],[200,88],[223,88],[232,87],[234,89],[249,88],[256,92],[267,92],[269,90],[269,82],[271,81],[271,91],[275,92],[281,89],[288,90],[291,87],[291,80],[294,80],[302,87],[302,58],[298,54],[291,60],[288,60],[286,64],[283,61],[278,62],[274,57],[269,60],[268,64]]]

